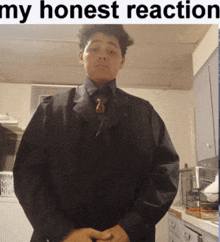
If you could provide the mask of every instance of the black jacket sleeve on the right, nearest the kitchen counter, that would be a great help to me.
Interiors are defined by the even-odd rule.
[[[143,171],[133,209],[119,221],[131,242],[154,241],[149,236],[154,236],[155,225],[168,211],[178,188],[179,157],[162,119],[153,108],[151,117],[156,144],[152,169]]]

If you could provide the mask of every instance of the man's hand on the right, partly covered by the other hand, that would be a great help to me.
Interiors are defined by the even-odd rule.
[[[105,241],[109,242],[130,242],[130,239],[124,229],[120,225],[116,225],[110,229],[105,230],[103,233],[109,233],[112,236]],[[98,239],[97,242],[103,242],[103,239]]]

